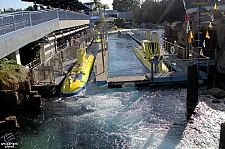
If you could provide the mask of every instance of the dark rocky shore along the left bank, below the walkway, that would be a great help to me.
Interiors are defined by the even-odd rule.
[[[19,128],[17,117],[32,111],[39,111],[42,106],[41,95],[32,90],[29,73],[25,68],[18,70],[26,80],[10,85],[0,85],[0,132],[1,134]]]

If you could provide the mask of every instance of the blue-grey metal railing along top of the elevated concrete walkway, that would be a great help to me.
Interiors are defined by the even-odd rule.
[[[21,28],[38,25],[54,19],[89,20],[89,16],[62,9],[7,13],[0,16],[0,36]]]

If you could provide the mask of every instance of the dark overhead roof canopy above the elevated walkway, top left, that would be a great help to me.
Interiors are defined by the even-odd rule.
[[[34,4],[43,4],[53,8],[69,9],[69,10],[90,10],[87,5],[78,0],[21,0],[23,2],[33,2]]]

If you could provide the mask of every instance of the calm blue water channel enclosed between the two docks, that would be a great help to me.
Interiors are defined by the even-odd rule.
[[[133,53],[133,48],[139,45],[127,35],[109,36],[108,76],[138,76],[146,70]]]

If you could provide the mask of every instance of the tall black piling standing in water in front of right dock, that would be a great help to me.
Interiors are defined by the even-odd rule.
[[[197,65],[191,64],[188,66],[188,78],[187,78],[186,116],[188,119],[194,113],[197,103],[198,103]]]

